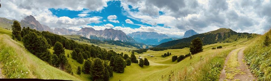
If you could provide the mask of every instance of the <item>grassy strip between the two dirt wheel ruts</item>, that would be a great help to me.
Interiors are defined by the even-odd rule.
[[[245,74],[245,72],[241,71],[241,69],[237,69],[237,67],[240,66],[240,63],[238,62],[238,52],[242,48],[237,49],[235,52],[233,52],[228,60],[228,63],[226,64],[226,79],[233,79],[236,74]]]

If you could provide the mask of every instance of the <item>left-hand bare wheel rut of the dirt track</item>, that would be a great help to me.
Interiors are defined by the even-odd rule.
[[[231,54],[234,53],[235,51],[237,51],[237,49],[232,50],[232,52],[230,52],[230,53],[228,54],[228,56],[226,57],[225,64],[224,64],[224,67],[223,67],[223,70],[221,71],[221,74],[220,74],[220,76],[219,76],[219,81],[223,81],[223,80],[225,79],[225,77],[226,77],[226,70],[225,70],[226,64],[228,63],[228,60],[229,60],[229,57],[231,56]]]

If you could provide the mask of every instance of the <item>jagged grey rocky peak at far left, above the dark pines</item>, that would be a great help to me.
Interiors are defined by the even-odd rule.
[[[21,27],[30,27],[31,29],[36,29],[38,31],[49,31],[54,32],[50,27],[40,24],[32,15],[27,16],[20,21]]]

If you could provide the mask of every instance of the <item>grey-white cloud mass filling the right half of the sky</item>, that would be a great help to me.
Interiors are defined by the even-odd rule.
[[[138,9],[138,11],[131,11]],[[262,34],[271,24],[271,1],[262,0],[123,0],[129,18],[142,23],[199,33],[216,28]],[[163,15],[159,15],[163,11]],[[181,33],[179,33],[181,34]]]

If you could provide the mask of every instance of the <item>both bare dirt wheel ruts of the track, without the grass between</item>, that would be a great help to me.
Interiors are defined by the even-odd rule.
[[[228,54],[228,56],[226,57],[226,60],[225,60],[225,64],[224,64],[224,67],[223,67],[223,70],[221,71],[221,74],[220,74],[220,79],[219,81],[234,81],[234,80],[237,80],[237,81],[254,81],[256,80],[256,78],[254,77],[253,74],[251,74],[250,70],[248,69],[248,66],[246,65],[245,63],[245,60],[244,60],[244,48],[241,49],[238,54],[237,54],[237,61],[238,63],[240,64],[240,66],[236,67],[238,70],[240,70],[241,73],[238,73],[234,76],[233,79],[226,79],[226,64],[228,63],[228,60],[229,60],[229,57],[231,56],[232,53],[235,53],[236,51],[238,51],[238,49],[235,49],[235,50],[232,50],[232,52],[230,52]],[[244,61],[244,62],[243,62]]]

